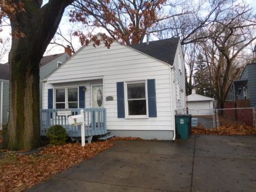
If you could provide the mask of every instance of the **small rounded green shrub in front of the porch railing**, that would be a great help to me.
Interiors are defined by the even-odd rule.
[[[67,140],[66,129],[61,125],[53,125],[47,131],[46,137],[52,145],[63,145]]]

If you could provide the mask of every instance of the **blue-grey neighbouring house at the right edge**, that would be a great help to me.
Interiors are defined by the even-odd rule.
[[[239,79],[230,86],[227,101],[249,99],[250,106],[256,107],[256,63],[248,63]]]

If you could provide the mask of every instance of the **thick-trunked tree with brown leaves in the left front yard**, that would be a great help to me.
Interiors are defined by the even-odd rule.
[[[10,116],[5,146],[33,149],[40,142],[39,61],[73,0],[2,0],[0,19],[10,19]],[[1,23],[0,23],[1,24]]]

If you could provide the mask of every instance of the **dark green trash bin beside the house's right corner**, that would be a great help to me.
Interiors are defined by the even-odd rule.
[[[175,115],[176,134],[181,139],[188,139],[191,135],[191,115]]]

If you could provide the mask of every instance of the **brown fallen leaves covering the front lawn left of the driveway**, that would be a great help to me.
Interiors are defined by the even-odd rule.
[[[93,157],[114,146],[116,140],[137,140],[139,138],[120,138],[97,141],[84,148],[79,143],[51,146],[33,155],[9,152],[0,156],[1,191],[23,191],[39,182],[49,179],[69,167]]]

